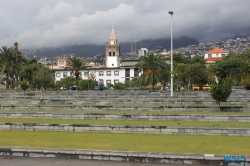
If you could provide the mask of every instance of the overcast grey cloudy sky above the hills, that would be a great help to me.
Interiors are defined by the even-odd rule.
[[[173,38],[222,40],[250,34],[249,9],[249,0],[0,0],[0,47],[104,45],[112,27],[120,42],[170,38],[171,20]]]

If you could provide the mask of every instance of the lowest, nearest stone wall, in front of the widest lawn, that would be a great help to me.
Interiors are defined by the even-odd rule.
[[[1,156],[18,157],[57,157],[67,159],[105,160],[121,162],[144,162],[189,165],[234,165],[250,166],[250,158],[244,156],[243,162],[225,162],[224,155],[214,154],[171,154],[132,151],[100,151],[100,150],[72,150],[72,149],[40,149],[0,147]]]

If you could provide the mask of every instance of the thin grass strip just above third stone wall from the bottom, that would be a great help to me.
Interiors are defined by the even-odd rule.
[[[65,114],[163,114],[163,115],[239,115],[250,116],[250,112],[184,112],[184,111],[105,111],[105,110],[0,110],[1,112],[18,112],[18,113],[65,113]]]

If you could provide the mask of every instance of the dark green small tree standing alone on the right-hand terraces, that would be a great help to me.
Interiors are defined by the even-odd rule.
[[[211,97],[219,104],[219,112],[220,112],[220,102],[226,102],[229,98],[232,89],[232,78],[226,77],[226,78],[219,78],[218,82],[214,81],[211,84]]]

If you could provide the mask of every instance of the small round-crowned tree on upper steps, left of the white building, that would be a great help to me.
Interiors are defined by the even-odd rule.
[[[39,71],[33,75],[32,82],[36,85],[36,87],[40,88],[40,103],[42,104],[46,89],[54,84],[54,78],[51,70],[48,68],[39,69]]]

